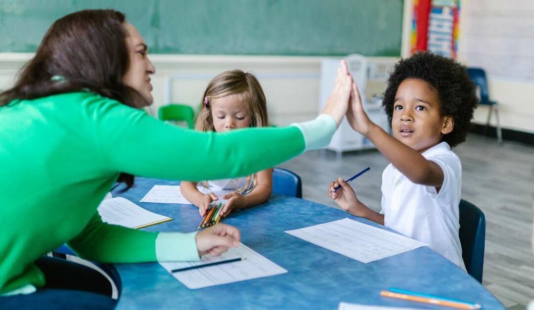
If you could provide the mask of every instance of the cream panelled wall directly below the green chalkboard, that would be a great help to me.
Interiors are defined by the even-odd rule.
[[[0,53],[0,90],[13,84],[17,71],[32,56],[32,53]],[[321,57],[154,54],[150,59],[156,74],[152,76],[154,105],[147,110],[154,116],[159,106],[167,104],[168,98],[197,108],[209,80],[235,68],[256,75],[265,92],[272,123],[287,125],[310,120],[318,113]],[[370,60],[389,62],[396,58]],[[383,81],[370,81],[367,96],[381,93],[383,88]]]

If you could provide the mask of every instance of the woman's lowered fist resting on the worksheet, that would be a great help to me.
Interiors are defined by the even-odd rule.
[[[195,241],[199,256],[206,254],[219,256],[228,251],[230,247],[238,247],[241,234],[239,229],[221,223],[201,230],[195,236]]]

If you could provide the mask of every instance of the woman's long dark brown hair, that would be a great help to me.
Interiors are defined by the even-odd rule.
[[[122,82],[129,66],[124,20],[124,14],[114,10],[84,10],[58,19],[13,88],[0,93],[0,107],[16,99],[83,90],[134,108],[148,105]],[[126,183],[124,190],[133,186],[131,174],[121,173],[118,181]]]

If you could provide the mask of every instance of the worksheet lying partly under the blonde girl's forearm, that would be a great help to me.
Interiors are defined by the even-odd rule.
[[[202,186],[197,188],[203,194],[214,193],[217,195],[219,200],[214,201],[214,203],[217,202],[217,204],[219,202],[224,203],[225,200],[221,197],[233,192],[233,190],[214,190]],[[139,202],[192,204],[182,195],[179,185],[154,185]]]

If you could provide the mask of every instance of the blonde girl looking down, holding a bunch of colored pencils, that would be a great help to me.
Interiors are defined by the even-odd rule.
[[[200,110],[195,120],[199,131],[226,132],[234,129],[267,126],[268,114],[265,95],[256,77],[241,70],[224,71],[208,84],[202,96]],[[269,199],[272,192],[272,168],[237,179],[199,182],[208,189],[204,194],[197,182],[182,181],[180,189],[184,197],[198,206],[204,216],[209,204],[219,200],[213,193],[231,189],[223,195],[227,200],[221,212],[226,217],[232,210],[248,208]]]

